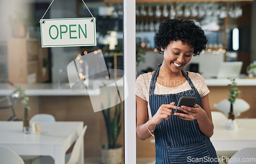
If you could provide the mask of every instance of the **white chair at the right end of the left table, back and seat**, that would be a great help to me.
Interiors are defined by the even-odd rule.
[[[73,150],[71,153],[66,154],[65,156],[65,163],[66,164],[76,164],[79,160],[80,151],[81,151],[81,143],[84,136],[84,133],[86,132],[87,125],[83,127],[82,132],[79,134],[76,143],[73,147]],[[54,159],[50,156],[40,156],[39,158],[36,158],[32,164],[54,164]]]

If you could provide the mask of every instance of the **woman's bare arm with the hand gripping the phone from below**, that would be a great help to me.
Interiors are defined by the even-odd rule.
[[[214,134],[214,124],[211,119],[211,111],[208,100],[208,94],[201,98],[202,106],[197,104],[194,107],[181,106],[178,109],[188,113],[175,113],[174,115],[179,116],[183,120],[197,120],[199,129],[201,132],[210,138]]]

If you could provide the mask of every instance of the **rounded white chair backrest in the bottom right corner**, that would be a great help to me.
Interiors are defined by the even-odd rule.
[[[256,163],[256,148],[244,148],[236,152],[228,161],[228,164]]]

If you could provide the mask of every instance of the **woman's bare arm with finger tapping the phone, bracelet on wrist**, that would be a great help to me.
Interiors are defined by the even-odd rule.
[[[136,109],[137,109],[137,135],[140,139],[145,140],[151,137],[149,130],[154,130],[163,119],[169,119],[172,116],[171,108],[176,108],[174,103],[162,104],[157,110],[156,114],[147,121],[148,112],[147,112],[147,102],[140,97],[136,96]],[[148,122],[148,123],[147,123]],[[148,124],[148,125],[147,125]]]

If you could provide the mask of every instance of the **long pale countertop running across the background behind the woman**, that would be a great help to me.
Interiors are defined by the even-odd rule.
[[[207,86],[227,86],[231,84],[228,79],[205,79]],[[236,79],[237,86],[256,86],[255,78]],[[93,82],[93,88],[89,88],[90,96],[100,95],[100,90],[96,89],[103,87],[100,81]],[[69,83],[63,83],[59,87],[56,83],[33,83],[33,84],[15,84],[26,89],[27,96],[89,96],[86,89],[74,91],[70,89]],[[115,83],[112,84],[115,87]],[[111,86],[112,86],[111,85]],[[123,80],[117,81],[117,86],[123,86]],[[0,83],[0,96],[6,96],[14,91],[14,87],[7,83]]]

